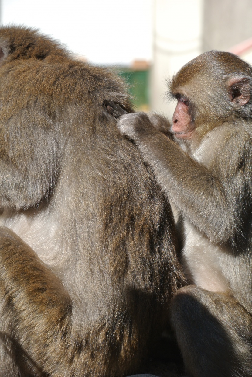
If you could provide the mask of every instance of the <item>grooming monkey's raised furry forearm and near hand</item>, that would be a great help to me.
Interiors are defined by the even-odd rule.
[[[121,134],[138,145],[158,183],[185,218],[214,243],[234,238],[237,229],[240,230],[237,201],[241,199],[241,181],[235,175],[229,177],[231,189],[227,190],[225,179],[214,176],[153,128],[144,113],[124,115],[118,127]]]

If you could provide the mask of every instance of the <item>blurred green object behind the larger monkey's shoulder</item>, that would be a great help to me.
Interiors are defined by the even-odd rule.
[[[120,68],[119,76],[123,77],[133,96],[133,105],[136,110],[149,110],[149,69]]]

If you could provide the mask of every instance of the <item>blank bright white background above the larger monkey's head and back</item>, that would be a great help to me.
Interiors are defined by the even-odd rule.
[[[0,19],[39,28],[93,63],[152,58],[152,0],[1,0]]]

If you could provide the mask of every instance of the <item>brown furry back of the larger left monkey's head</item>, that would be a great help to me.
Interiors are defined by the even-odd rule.
[[[35,58],[39,60],[50,57],[64,58],[68,53],[59,44],[39,34],[36,29],[26,27],[0,28],[0,65],[14,60]]]

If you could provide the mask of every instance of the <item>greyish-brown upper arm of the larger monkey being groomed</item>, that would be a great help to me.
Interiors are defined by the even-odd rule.
[[[1,124],[0,208],[19,210],[38,204],[48,197],[55,184],[57,138],[49,121],[36,115],[27,113],[22,119],[18,113]],[[23,125],[25,121],[27,124]]]

